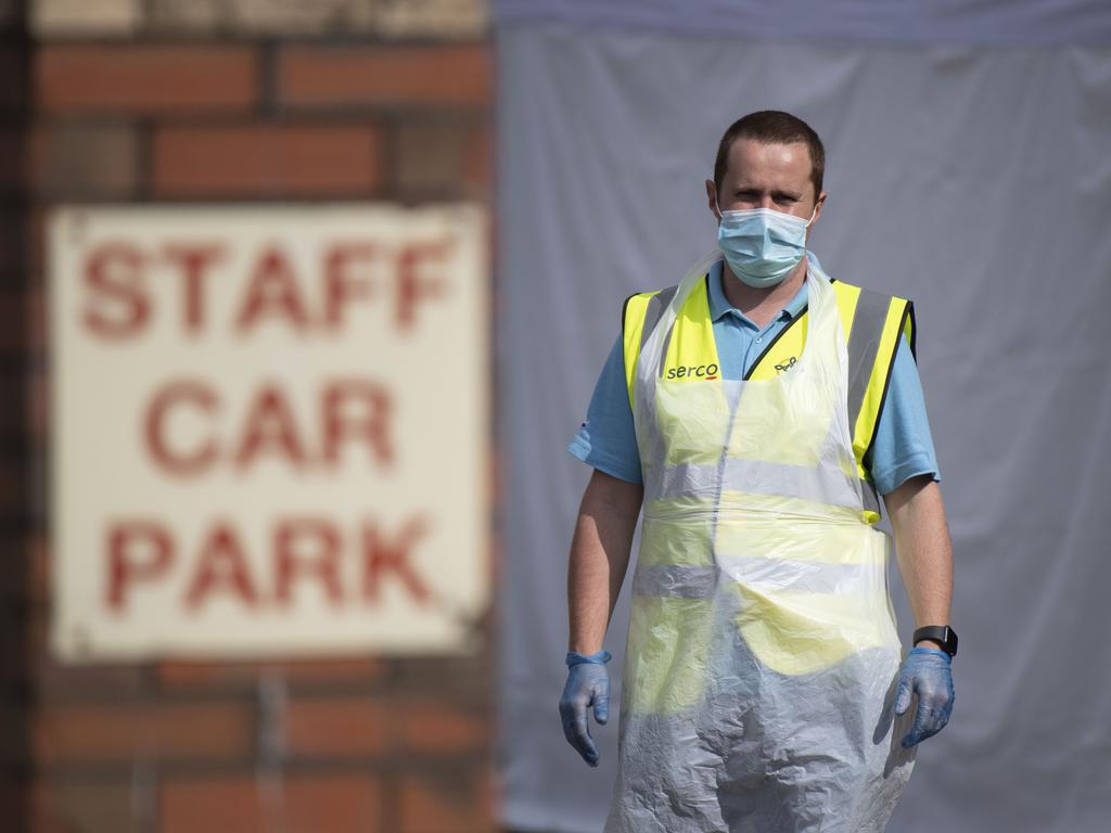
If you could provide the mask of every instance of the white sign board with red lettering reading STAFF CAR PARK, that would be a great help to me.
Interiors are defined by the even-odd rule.
[[[458,652],[488,603],[476,205],[50,219],[54,652]]]

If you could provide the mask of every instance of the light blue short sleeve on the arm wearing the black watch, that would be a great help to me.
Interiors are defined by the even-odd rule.
[[[875,439],[863,462],[880,494],[890,494],[919,474],[941,480],[925,414],[922,380],[905,339],[899,340],[888,395],[875,425]]]

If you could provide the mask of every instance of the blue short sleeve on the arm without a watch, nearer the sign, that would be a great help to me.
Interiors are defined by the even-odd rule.
[[[587,419],[567,450],[588,465],[614,478],[630,483],[642,482],[620,335],[594,384]]]

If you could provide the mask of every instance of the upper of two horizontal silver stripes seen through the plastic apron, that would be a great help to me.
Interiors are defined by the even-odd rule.
[[[720,478],[720,480],[719,480]],[[815,503],[855,509],[860,505],[853,480],[831,466],[820,469],[767,460],[728,458],[713,464],[669,465],[660,474],[660,498],[715,498],[718,488],[755,494],[782,494]]]

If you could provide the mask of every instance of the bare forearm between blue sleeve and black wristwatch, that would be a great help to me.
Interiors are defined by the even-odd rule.
[[[884,502],[895,533],[895,553],[915,628],[950,624],[953,551],[941,489],[927,478],[912,478]],[[937,648],[923,641],[923,646]]]

